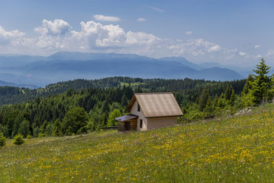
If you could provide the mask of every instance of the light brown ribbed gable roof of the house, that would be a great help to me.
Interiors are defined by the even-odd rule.
[[[130,112],[136,100],[147,118],[183,115],[172,93],[135,93],[129,102],[129,106],[127,106],[126,112]]]

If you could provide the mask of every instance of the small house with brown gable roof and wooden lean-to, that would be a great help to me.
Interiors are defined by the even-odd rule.
[[[118,131],[145,131],[177,124],[182,110],[173,93],[135,93],[123,117],[118,117]]]

